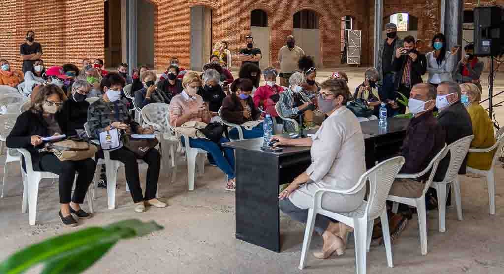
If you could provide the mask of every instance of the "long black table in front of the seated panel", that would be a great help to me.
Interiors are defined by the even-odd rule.
[[[408,122],[409,119],[390,118],[387,131],[379,129],[378,120],[361,122],[368,168],[397,153]],[[280,252],[278,188],[308,168],[310,148],[292,146],[283,147],[279,153],[262,151],[262,138],[223,145],[236,153],[236,238]]]

